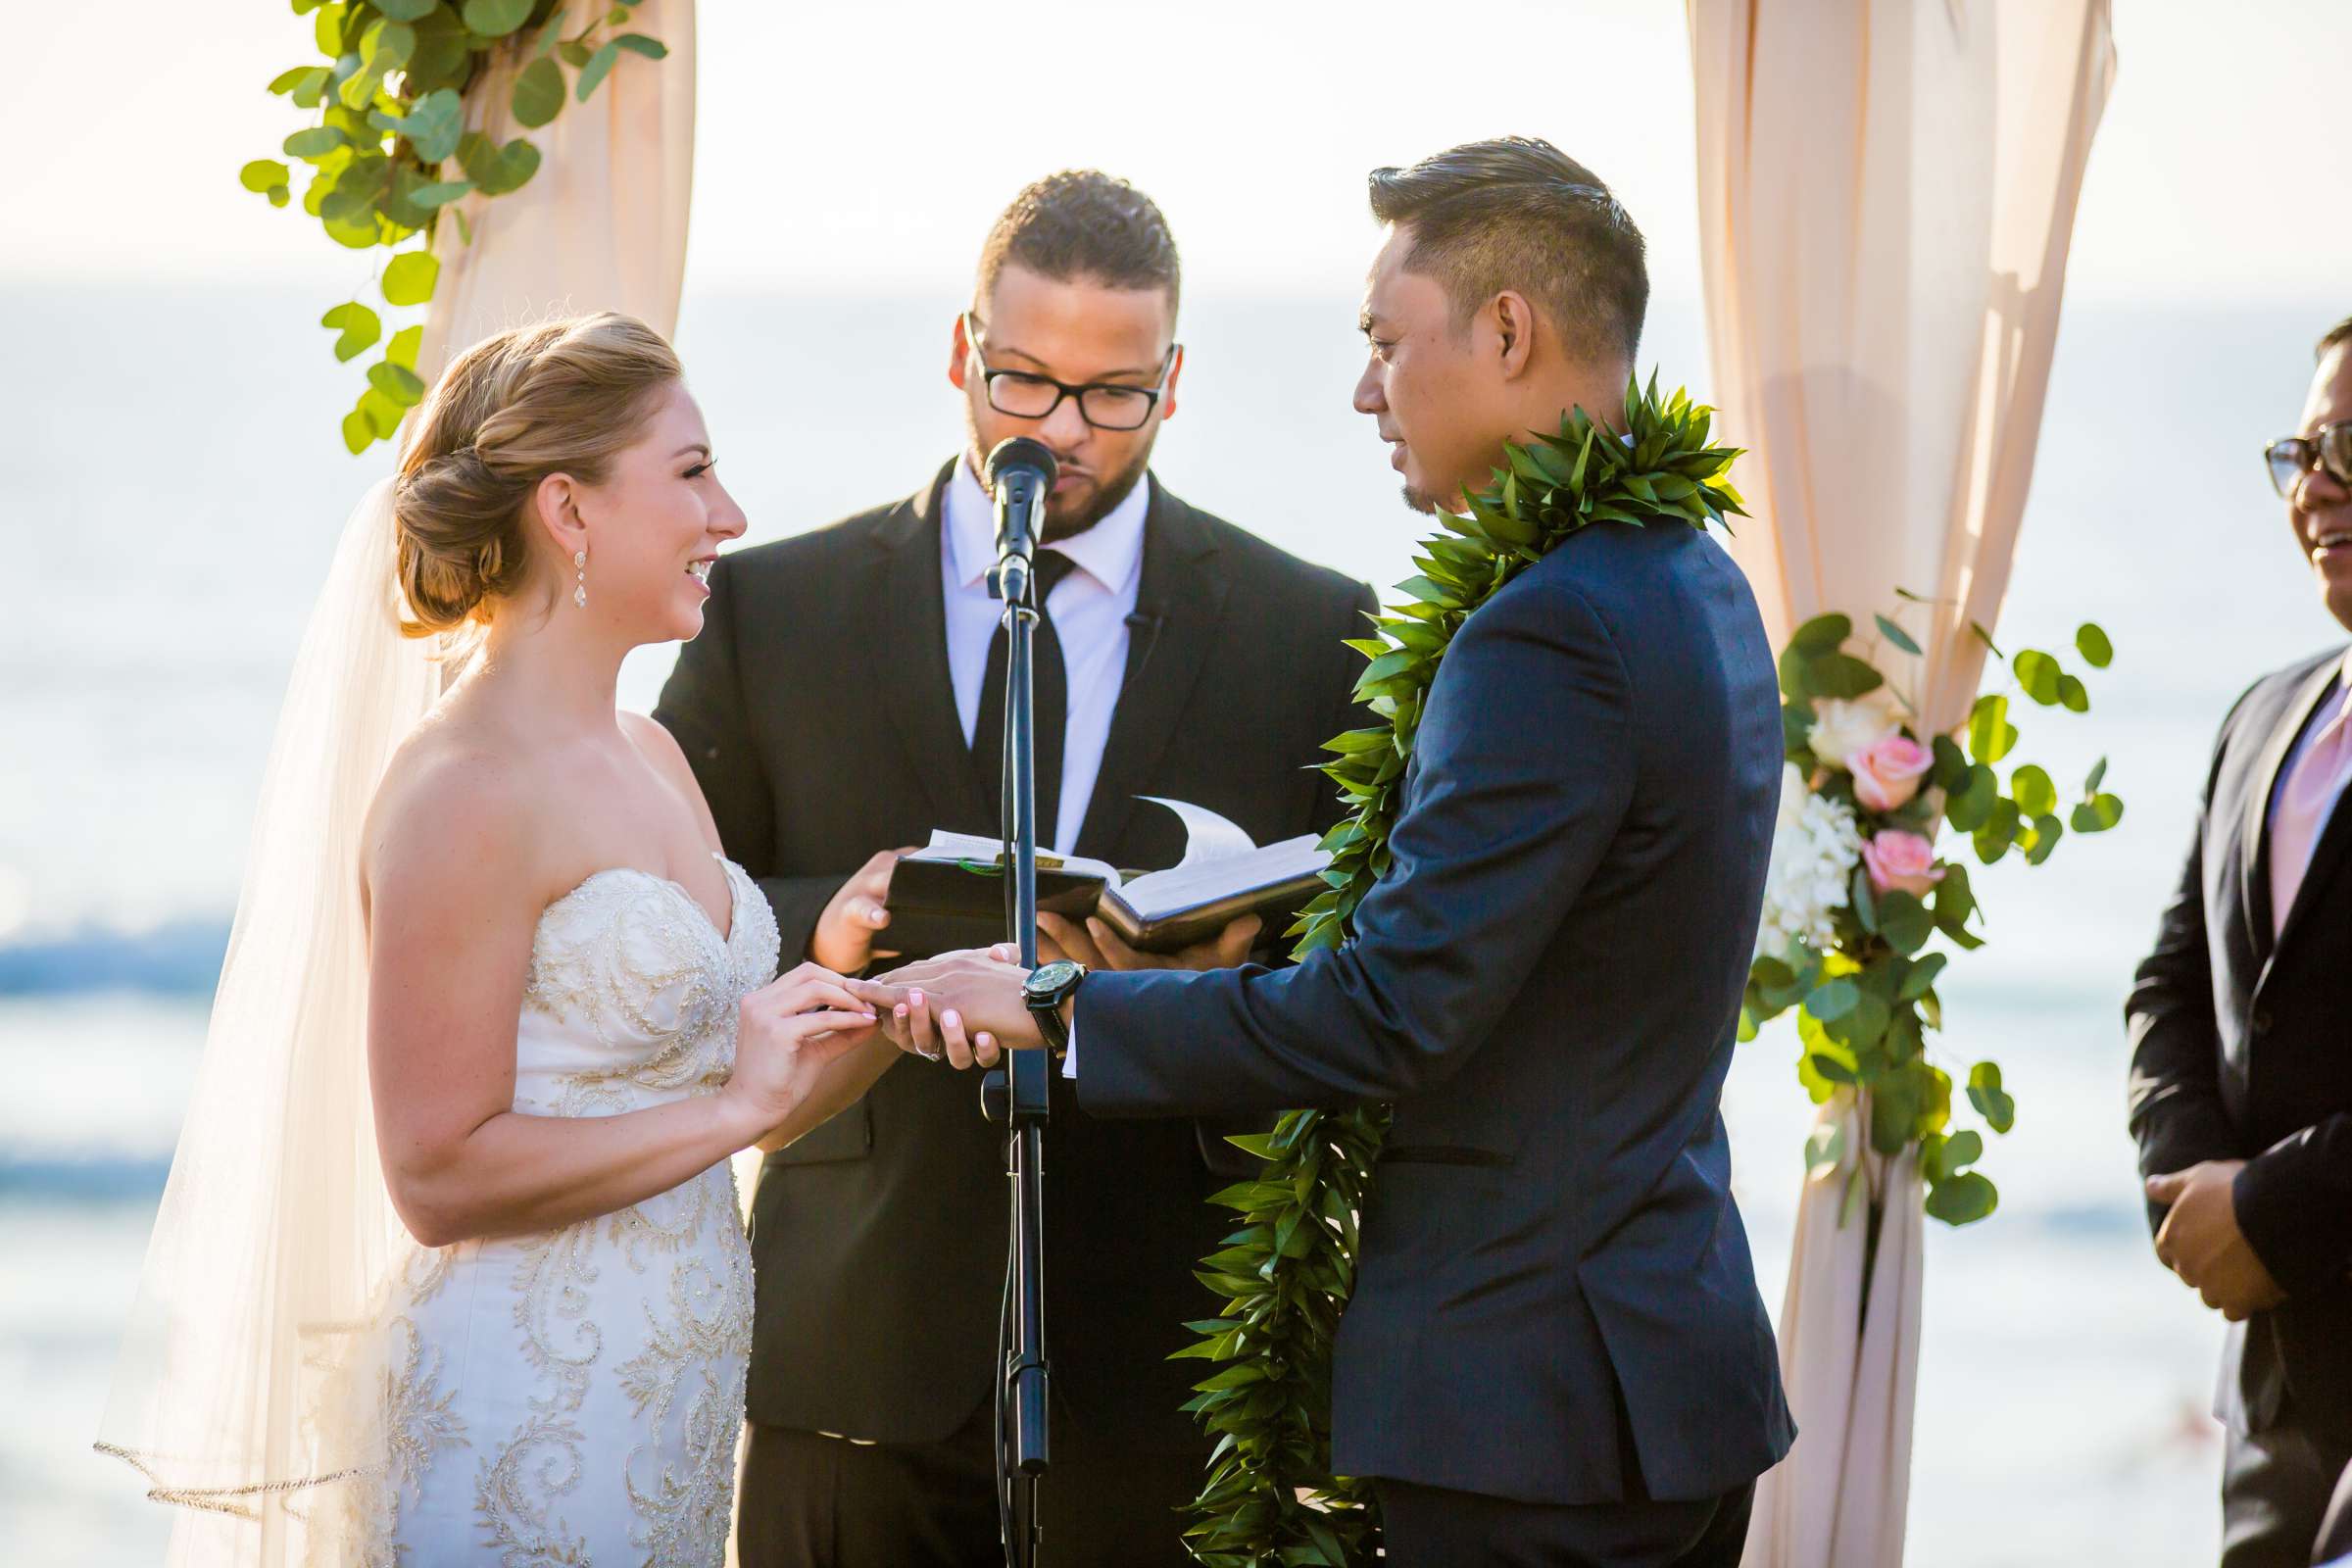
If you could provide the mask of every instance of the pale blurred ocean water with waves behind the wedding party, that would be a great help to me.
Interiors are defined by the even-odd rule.
[[[343,456],[350,378],[292,287],[0,284],[0,1537],[12,1561],[153,1561],[167,1521],[89,1453],[235,903],[268,726],[336,527],[386,465]],[[960,301],[689,292],[680,324],[753,538],[903,494],[955,447]],[[1931,1227],[1910,1561],[2211,1561],[2220,1326],[2164,1274],[2122,1131],[2119,1001],[2187,842],[2213,724],[2336,637],[2256,461],[2293,423],[2326,303],[2077,306],[2060,334],[2004,646],[2114,635],[2086,719],[2020,757],[2129,802],[2053,867],[1980,875],[1992,947],[1945,987],[1952,1065],[1997,1056],[2002,1211]],[[1162,477],[1392,583],[1392,491],[1348,296],[1197,299]],[[1693,301],[1646,357],[1705,388]],[[635,656],[649,705],[670,651]],[[1780,1030],[1726,1091],[1778,1305],[1809,1119]]]

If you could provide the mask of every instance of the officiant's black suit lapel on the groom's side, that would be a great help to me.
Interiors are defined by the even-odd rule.
[[[1136,792],[1167,752],[1185,698],[1200,682],[1225,611],[1228,581],[1218,569],[1216,538],[1160,480],[1150,480],[1150,487],[1143,581],[1136,585],[1120,705],[1110,717],[1103,769],[1077,832],[1077,853],[1084,856],[1108,856],[1117,846]]]

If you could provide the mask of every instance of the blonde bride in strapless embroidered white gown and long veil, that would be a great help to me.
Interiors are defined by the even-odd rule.
[[[741,531],[619,315],[461,355],[353,517],[99,1443],[191,1509],[176,1561],[724,1559],[727,1159],[898,1058],[776,978],[677,743],[614,710]]]

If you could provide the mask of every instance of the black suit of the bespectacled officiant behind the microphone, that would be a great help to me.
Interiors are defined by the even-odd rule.
[[[786,964],[870,853],[934,827],[997,832],[948,675],[938,531],[950,473],[906,501],[722,557],[703,635],[663,689],[656,717],[694,764],[727,853],[767,891]],[[1209,806],[1261,844],[1329,827],[1336,788],[1312,764],[1364,722],[1350,698],[1364,661],[1341,639],[1362,635],[1371,592],[1150,484],[1124,684],[1073,853],[1174,865],[1183,827],[1138,795]],[[1171,1509],[1192,1495],[1207,1443],[1181,1415],[1195,1363],[1167,1354],[1188,1319],[1216,1307],[1192,1265],[1225,1229],[1204,1199],[1235,1178],[1204,1154],[1232,1152],[1192,1121],[1103,1124],[1058,1098],[1044,1166],[1061,1406],[1049,1552],[1178,1563]],[[901,1063],[858,1107],[769,1154],[750,1237],[743,1542],[771,1549],[767,1561],[851,1568],[1002,1561],[993,1495],[969,1481],[997,1382],[1007,1237],[1002,1135],[981,1119],[978,1077]],[[894,1450],[903,1465],[880,1469]],[[875,1514],[915,1523],[861,1535],[858,1519]],[[1136,1528],[1157,1559],[1136,1554]],[[960,1554],[950,1537],[974,1530],[978,1554]],[[814,1537],[830,1547],[793,1544]]]

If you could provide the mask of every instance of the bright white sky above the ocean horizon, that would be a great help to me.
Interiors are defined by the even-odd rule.
[[[1922,0],[1945,2],[1966,0]],[[301,125],[263,85],[308,59],[308,19],[268,0],[19,9],[0,287],[367,275],[235,186]],[[703,0],[699,33],[689,289],[960,287],[1023,181],[1096,165],[1167,209],[1190,292],[1329,294],[1362,275],[1369,167],[1529,132],[1618,190],[1661,296],[1698,292],[1677,0]],[[2352,5],[2117,0],[2114,33],[2070,296],[2352,294]]]

